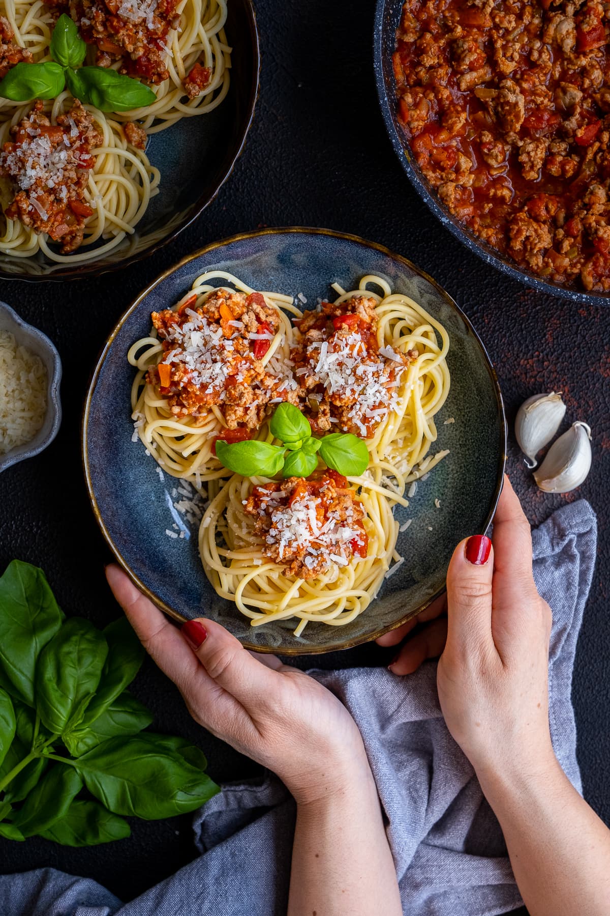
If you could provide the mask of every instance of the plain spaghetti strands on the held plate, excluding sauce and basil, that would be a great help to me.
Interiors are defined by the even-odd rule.
[[[244,293],[252,292],[230,274],[209,272],[195,280],[192,292],[180,300],[177,309],[193,294],[198,304],[213,295],[217,288],[209,284],[211,279],[225,280]],[[174,419],[168,399],[161,396],[158,386],[147,381],[151,366],[157,365],[164,353],[162,343],[152,334],[137,341],[128,354],[130,363],[139,370],[132,388],[134,438],[139,436],[164,471],[186,479],[209,499],[198,538],[209,582],[221,597],[234,602],[242,614],[250,617],[254,627],[295,617],[296,636],[311,621],[331,626],[348,624],[370,604],[384,577],[402,562],[396,551],[399,523],[393,518],[393,507],[408,506],[406,486],[447,454],[430,453],[437,438],[433,418],[442,408],[450,386],[446,365],[449,337],[444,327],[410,297],[392,292],[384,278],[369,275],[360,280],[358,289],[346,291],[337,284],[334,289],[339,294],[334,306],[350,303],[355,297],[374,300],[377,346],[395,359],[398,354],[409,356],[403,361],[391,409],[367,441],[368,469],[360,477],[344,478],[346,487],[351,484],[344,497],[359,501],[362,510],[366,555],[359,556],[356,549],[346,553],[328,548],[334,562],[313,577],[292,574],[285,559],[283,562],[279,555],[270,556],[269,535],[262,536],[256,518],[248,510],[251,496],[261,487],[266,485],[273,490],[278,485],[262,477],[247,479],[231,474],[212,453],[211,442],[224,428],[219,410],[209,409],[197,418]],[[265,293],[264,298],[278,310],[289,311],[297,324],[302,319],[292,297]],[[300,333],[292,331],[285,315],[283,331],[284,339],[273,342],[273,355],[278,361],[289,360],[288,370],[292,371],[294,361],[289,356],[299,345]],[[262,421],[255,435],[273,442],[267,420]],[[323,463],[318,462],[316,474],[324,473],[330,472],[324,472]],[[295,480],[290,478],[288,485],[294,486]],[[316,511],[309,518],[314,518]],[[318,523],[310,522],[314,529]],[[291,530],[290,543],[294,543],[301,529]],[[320,531],[324,530],[323,525]]]

